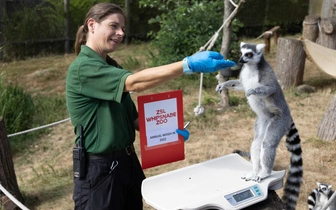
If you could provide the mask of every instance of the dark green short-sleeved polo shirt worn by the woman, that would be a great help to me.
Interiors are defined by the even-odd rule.
[[[131,72],[108,64],[86,45],[69,66],[66,103],[71,123],[84,127],[87,152],[106,154],[124,149],[135,140],[138,112],[128,92],[123,92]],[[79,130],[79,129],[78,129]],[[76,132],[78,143],[79,132]]]

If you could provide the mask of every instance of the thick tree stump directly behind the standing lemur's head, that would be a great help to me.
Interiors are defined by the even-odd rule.
[[[305,60],[306,54],[300,40],[279,38],[274,72],[282,89],[303,83]]]

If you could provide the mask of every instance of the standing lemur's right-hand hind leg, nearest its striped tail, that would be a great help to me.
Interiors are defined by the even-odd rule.
[[[275,116],[268,120],[266,124],[260,153],[261,170],[257,174],[257,180],[255,181],[260,181],[272,173],[276,148],[287,129],[287,126],[283,126],[283,120],[284,119],[281,119],[279,116]]]

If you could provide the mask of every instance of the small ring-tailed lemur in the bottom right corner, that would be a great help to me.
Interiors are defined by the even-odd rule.
[[[309,210],[321,209],[330,199],[334,193],[331,190],[332,185],[316,182],[317,188],[314,189],[308,196],[308,208]],[[336,200],[333,201],[327,210],[336,210]]]

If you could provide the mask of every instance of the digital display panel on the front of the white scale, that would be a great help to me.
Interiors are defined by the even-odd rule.
[[[245,203],[254,198],[258,198],[262,195],[263,193],[261,189],[256,184],[243,190],[226,195],[224,197],[232,206],[236,206],[238,204]]]

